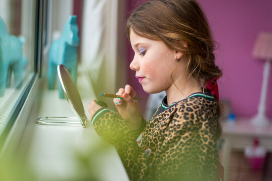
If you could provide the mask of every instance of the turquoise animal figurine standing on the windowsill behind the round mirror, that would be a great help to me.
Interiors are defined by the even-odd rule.
[[[66,21],[61,37],[55,40],[50,47],[48,63],[48,88],[54,89],[57,65],[63,64],[72,75],[77,84],[78,70],[78,46],[79,46],[79,28],[77,25],[77,16],[70,16]],[[64,94],[58,81],[59,98],[63,99]]]

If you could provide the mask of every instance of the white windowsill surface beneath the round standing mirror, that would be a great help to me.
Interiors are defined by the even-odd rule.
[[[96,97],[85,75],[79,67],[78,88],[89,117],[87,104]],[[58,98],[58,89],[49,91],[47,80],[39,81],[40,90],[19,147],[34,175],[39,180],[77,180],[86,174],[100,180],[128,180],[115,148],[105,143],[91,124],[83,128],[35,123],[39,117],[75,117],[69,103]]]

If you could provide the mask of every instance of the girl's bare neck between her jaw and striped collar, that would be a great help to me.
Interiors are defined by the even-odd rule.
[[[190,96],[193,93],[202,92],[200,84],[194,79],[191,78],[184,83],[177,84],[177,87],[173,84],[165,92],[167,95],[167,105],[171,105],[174,102],[178,102]]]

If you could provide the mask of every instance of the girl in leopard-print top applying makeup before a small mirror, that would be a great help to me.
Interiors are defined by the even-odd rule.
[[[130,85],[119,113],[88,104],[96,132],[112,143],[131,180],[216,180],[221,128],[214,41],[194,0],[152,0],[126,23],[130,68],[144,91],[166,97],[146,121]]]

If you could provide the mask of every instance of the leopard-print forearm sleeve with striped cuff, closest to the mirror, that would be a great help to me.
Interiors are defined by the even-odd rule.
[[[145,128],[146,120],[143,118],[142,126],[136,131],[131,131],[119,113],[102,108],[95,113],[92,122],[97,134],[115,146],[131,179],[135,176],[133,170],[138,169],[138,165],[133,163],[141,154],[136,140]]]

